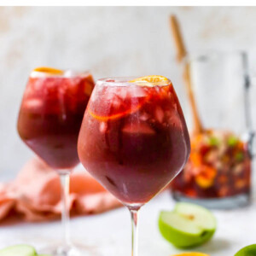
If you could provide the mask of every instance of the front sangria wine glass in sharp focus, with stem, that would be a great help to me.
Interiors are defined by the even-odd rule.
[[[137,256],[137,213],[188,160],[189,133],[169,79],[100,79],[79,132],[79,159],[131,212]]]

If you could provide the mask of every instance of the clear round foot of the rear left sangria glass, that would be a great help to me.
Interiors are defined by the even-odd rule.
[[[47,247],[40,250],[40,254],[47,254],[49,256],[100,256],[93,248],[74,246]]]

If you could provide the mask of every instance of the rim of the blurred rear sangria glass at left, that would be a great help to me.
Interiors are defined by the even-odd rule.
[[[48,74],[46,72],[33,71],[30,73],[29,78],[32,79],[44,79],[44,78],[54,78],[54,79],[73,79],[73,78],[84,78],[91,75],[90,70],[81,71],[79,69],[61,69],[63,73],[61,74]]]

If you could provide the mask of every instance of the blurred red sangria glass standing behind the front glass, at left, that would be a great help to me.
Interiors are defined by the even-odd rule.
[[[79,129],[93,88],[90,73],[38,67],[28,79],[20,106],[20,138],[61,178],[63,242],[51,252],[54,255],[76,255],[69,234],[69,179],[79,164]]]

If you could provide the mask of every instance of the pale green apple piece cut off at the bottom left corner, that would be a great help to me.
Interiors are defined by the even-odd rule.
[[[34,247],[27,245],[16,245],[5,247],[0,250],[0,256],[36,256],[37,252]]]

